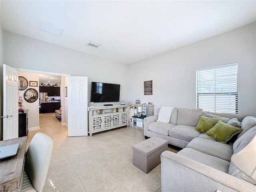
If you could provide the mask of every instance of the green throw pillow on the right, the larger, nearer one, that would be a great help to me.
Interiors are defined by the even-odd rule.
[[[231,126],[219,120],[210,130],[206,132],[207,135],[211,136],[218,142],[226,144],[232,136],[240,133],[243,129]]]

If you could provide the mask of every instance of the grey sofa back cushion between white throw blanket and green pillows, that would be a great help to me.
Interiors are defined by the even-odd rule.
[[[178,109],[177,125],[196,126],[200,115],[203,114],[202,109]]]

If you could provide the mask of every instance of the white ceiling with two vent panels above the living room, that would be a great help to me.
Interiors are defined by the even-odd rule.
[[[126,64],[256,21],[256,0],[3,1],[4,30]],[[64,28],[40,30],[41,20]],[[101,44],[97,49],[86,46]]]

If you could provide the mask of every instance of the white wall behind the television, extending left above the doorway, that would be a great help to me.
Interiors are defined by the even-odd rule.
[[[128,100],[128,65],[114,60],[4,31],[4,63],[14,68],[87,76],[88,102],[92,81],[121,84],[120,100]]]

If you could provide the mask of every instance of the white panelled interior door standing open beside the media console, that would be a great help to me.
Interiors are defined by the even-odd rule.
[[[88,136],[87,77],[68,77],[68,136]]]

